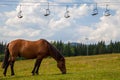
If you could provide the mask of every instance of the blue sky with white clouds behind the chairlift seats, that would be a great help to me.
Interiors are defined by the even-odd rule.
[[[51,14],[44,16],[49,1]],[[92,16],[97,3],[98,15]],[[111,15],[106,17],[106,5]],[[18,18],[21,11],[23,18]],[[66,6],[70,18],[65,18]],[[0,0],[0,41],[14,39],[109,43],[120,40],[120,0]],[[85,40],[88,38],[88,40]]]

